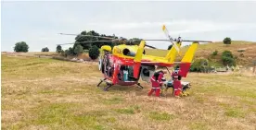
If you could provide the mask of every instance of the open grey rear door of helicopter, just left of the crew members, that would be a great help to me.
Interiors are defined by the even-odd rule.
[[[140,77],[143,81],[150,82],[150,77],[154,75],[154,65],[141,65]]]

